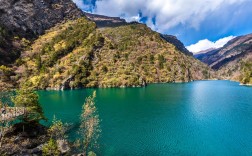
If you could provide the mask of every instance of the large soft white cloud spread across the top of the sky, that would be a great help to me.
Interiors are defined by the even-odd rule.
[[[149,18],[147,24],[150,27],[164,32],[179,24],[198,29],[208,13],[243,1],[246,0],[97,0],[93,12],[126,19],[137,17],[141,12]],[[152,18],[156,18],[155,27]]]

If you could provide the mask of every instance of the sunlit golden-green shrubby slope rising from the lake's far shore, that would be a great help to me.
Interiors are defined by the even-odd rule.
[[[38,89],[143,86],[211,78],[210,69],[143,24],[96,29],[86,18],[41,36],[18,61],[17,80]]]

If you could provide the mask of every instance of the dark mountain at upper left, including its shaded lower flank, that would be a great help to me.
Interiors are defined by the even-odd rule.
[[[45,30],[81,16],[71,0],[1,0],[0,65],[13,63],[23,46]]]

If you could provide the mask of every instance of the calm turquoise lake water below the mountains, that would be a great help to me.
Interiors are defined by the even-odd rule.
[[[49,120],[73,123],[74,139],[93,90],[39,91],[40,102]],[[195,81],[96,91],[99,155],[252,155],[252,87]]]

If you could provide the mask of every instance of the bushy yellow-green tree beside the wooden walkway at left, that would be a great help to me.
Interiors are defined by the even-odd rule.
[[[12,98],[15,107],[25,107],[26,113],[21,117],[24,123],[39,123],[46,120],[42,107],[38,101],[38,95],[26,85],[17,90],[17,95]]]

